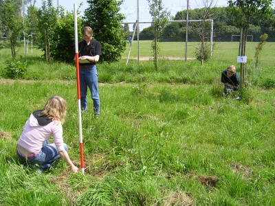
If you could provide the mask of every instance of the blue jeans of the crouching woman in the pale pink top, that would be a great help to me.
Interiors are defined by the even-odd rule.
[[[64,143],[65,150],[68,150],[67,144]],[[58,154],[58,151],[56,150],[56,145],[49,144],[49,142],[46,140],[43,142],[43,147],[41,148],[41,151],[34,155],[33,157],[25,157],[22,156],[18,150],[17,155],[21,161],[24,163],[29,163],[31,165],[39,164],[39,167],[42,169],[50,168],[52,163],[56,161],[56,159],[60,158],[60,155]],[[32,155],[31,155],[32,156]]]

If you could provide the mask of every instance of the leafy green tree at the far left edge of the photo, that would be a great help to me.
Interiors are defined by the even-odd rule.
[[[20,34],[23,32],[23,18],[19,1],[5,0],[1,3],[1,20],[6,30],[5,34],[10,38],[12,58],[16,58],[15,47]]]

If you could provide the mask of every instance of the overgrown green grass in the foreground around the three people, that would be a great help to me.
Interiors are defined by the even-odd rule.
[[[0,205],[275,205],[275,73],[247,64],[249,84],[223,97],[230,59],[125,60],[98,64],[102,115],[82,115],[85,174],[58,161],[47,174],[19,163],[16,146],[32,111],[67,100],[64,139],[80,166],[76,69],[23,57],[22,78],[3,78],[0,50]]]

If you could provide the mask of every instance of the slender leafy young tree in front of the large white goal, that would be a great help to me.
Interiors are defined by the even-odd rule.
[[[153,19],[153,30],[155,34],[151,45],[153,49],[153,58],[155,69],[157,70],[157,54],[159,53],[159,39],[162,36],[164,27],[170,21],[170,12],[164,10],[162,0],[147,0],[150,6],[150,14]]]

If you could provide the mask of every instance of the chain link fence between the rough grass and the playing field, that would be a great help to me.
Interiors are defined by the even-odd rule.
[[[186,21],[171,21],[165,27],[159,40],[159,59],[185,60],[187,56],[188,60],[195,60],[196,52],[198,52],[201,39],[203,38],[206,47],[212,48],[211,56],[213,60],[235,64],[237,56],[239,56],[241,30],[236,29],[236,27],[226,27],[225,30],[219,22],[211,24],[211,21],[206,21],[205,23],[206,27],[204,32],[202,32],[202,21],[188,22],[188,38],[186,42]],[[126,47],[122,58],[153,59],[153,50],[151,48],[154,40],[152,23],[140,22],[138,36],[137,23],[122,23],[122,25],[124,28],[129,28],[125,37],[129,45]],[[273,55],[275,49],[274,27],[252,27],[248,31],[245,54],[248,56],[248,61],[254,61],[256,47],[261,42],[261,35],[263,34],[268,34],[268,38],[261,50],[259,62],[263,65],[272,65],[275,60]]]

